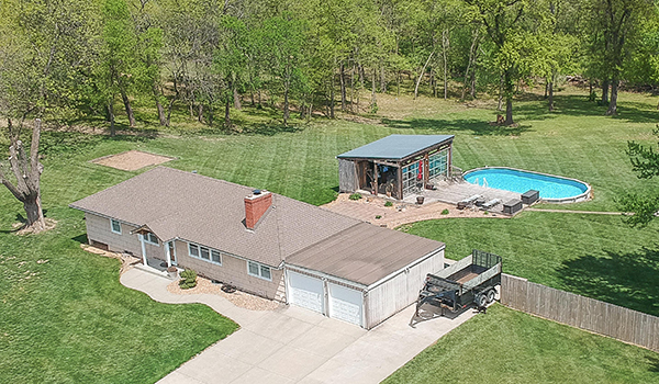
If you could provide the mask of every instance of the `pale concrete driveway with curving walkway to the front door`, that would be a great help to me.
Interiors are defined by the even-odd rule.
[[[127,287],[163,303],[202,303],[232,318],[241,329],[186,362],[159,383],[379,383],[438,338],[473,315],[409,326],[407,307],[366,331],[295,306],[276,310],[236,307],[220,295],[175,295],[171,280],[132,269],[121,276]]]

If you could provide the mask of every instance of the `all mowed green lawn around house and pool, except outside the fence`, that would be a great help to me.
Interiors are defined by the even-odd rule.
[[[157,304],[122,287],[114,260],[79,249],[82,214],[67,205],[136,174],[89,162],[97,157],[127,149],[175,156],[168,166],[323,204],[336,195],[336,155],[393,133],[449,133],[456,135],[455,163],[463,169],[511,166],[593,185],[592,202],[566,208],[614,210],[617,194],[659,187],[637,180],[624,154],[628,139],[654,142],[659,114],[652,98],[622,94],[615,118],[583,94],[559,93],[551,114],[543,101],[529,99],[515,104],[517,128],[488,125],[493,109],[382,95],[383,117],[365,123],[319,120],[281,128],[267,112],[246,109],[238,117],[257,122],[247,134],[191,123],[185,111],[161,132],[141,122],[137,136],[44,133],[43,205],[57,228],[14,235],[12,225],[24,213],[0,189],[0,382],[154,382],[235,329],[208,307]],[[651,278],[657,226],[632,230],[617,217],[525,213],[512,221],[422,223],[410,230],[447,242],[454,258],[471,248],[494,251],[506,271],[533,281],[658,310]],[[49,261],[37,264],[40,259]]]

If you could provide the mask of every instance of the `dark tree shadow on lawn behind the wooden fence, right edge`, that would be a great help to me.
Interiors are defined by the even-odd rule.
[[[659,250],[584,256],[563,262],[558,271],[577,294],[659,316]]]

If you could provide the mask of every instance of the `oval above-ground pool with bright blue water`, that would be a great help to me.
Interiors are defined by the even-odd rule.
[[[582,181],[514,168],[477,168],[467,171],[465,180],[472,184],[517,193],[536,190],[547,203],[584,201],[590,194],[590,185]]]

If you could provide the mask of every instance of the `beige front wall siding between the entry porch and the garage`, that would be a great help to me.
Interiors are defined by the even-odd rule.
[[[226,253],[222,255],[222,266],[193,258],[188,253],[188,242],[176,240],[176,258],[180,268],[189,268],[198,274],[236,286],[261,297],[286,302],[283,269],[270,268],[272,281],[247,274],[247,261]]]

